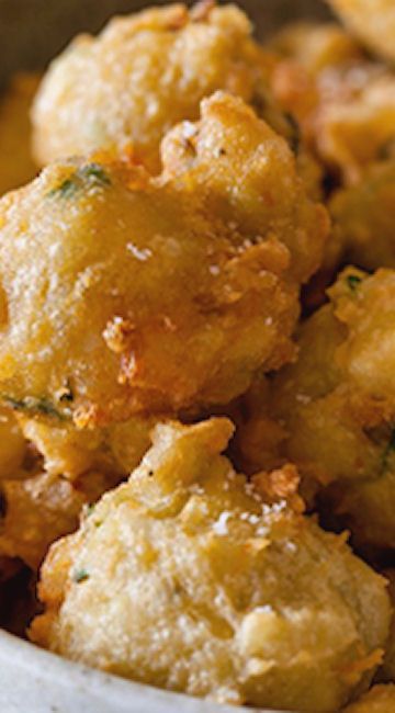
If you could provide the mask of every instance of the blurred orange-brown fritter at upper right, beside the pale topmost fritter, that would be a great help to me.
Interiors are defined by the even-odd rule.
[[[274,95],[296,117],[307,146],[328,170],[342,183],[358,183],[394,140],[395,76],[359,57],[347,35],[343,42],[334,38],[331,25],[303,32],[304,50],[296,34],[294,47],[289,41],[290,57],[274,67]]]

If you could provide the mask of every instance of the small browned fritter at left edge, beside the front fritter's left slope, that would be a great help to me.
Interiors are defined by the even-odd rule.
[[[49,545],[77,529],[82,507],[119,482],[100,473],[75,483],[49,473],[1,480],[0,555],[36,570]]]

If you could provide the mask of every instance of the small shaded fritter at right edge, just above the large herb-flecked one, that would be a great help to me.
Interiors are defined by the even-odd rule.
[[[395,157],[373,163],[361,181],[334,194],[334,235],[326,264],[395,268]]]

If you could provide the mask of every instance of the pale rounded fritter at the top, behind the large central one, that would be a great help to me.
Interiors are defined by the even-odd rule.
[[[98,38],[78,37],[52,64],[33,110],[37,161],[104,149],[159,171],[162,136],[196,120],[200,101],[218,89],[287,133],[268,91],[272,63],[234,5],[172,4],[115,18]]]

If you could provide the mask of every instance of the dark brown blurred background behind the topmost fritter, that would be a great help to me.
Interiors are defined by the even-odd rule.
[[[78,32],[98,32],[116,13],[166,0],[0,0],[0,83],[16,69],[40,69]],[[191,3],[189,3],[191,4]],[[238,0],[264,36],[295,18],[325,18],[325,0]]]

